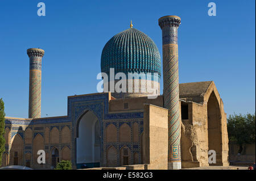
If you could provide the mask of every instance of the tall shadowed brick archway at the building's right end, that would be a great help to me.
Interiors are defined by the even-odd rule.
[[[214,91],[210,94],[207,103],[208,116],[208,150],[216,151],[216,163],[209,165],[222,164],[222,148],[221,148],[221,115],[220,105]]]

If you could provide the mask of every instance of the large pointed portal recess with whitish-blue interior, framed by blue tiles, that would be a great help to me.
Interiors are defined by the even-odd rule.
[[[86,111],[77,121],[77,169],[100,167],[100,121],[92,111]]]

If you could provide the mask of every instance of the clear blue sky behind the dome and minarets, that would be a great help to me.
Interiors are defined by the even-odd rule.
[[[46,4],[38,16],[37,4]],[[217,16],[208,16],[215,2]],[[181,17],[179,81],[214,81],[226,113],[255,112],[255,1],[1,1],[0,98],[6,116],[28,116],[28,48],[45,50],[42,117],[67,115],[67,96],[97,92],[101,51],[134,28],[155,41],[158,19]],[[163,78],[161,90],[163,89]]]

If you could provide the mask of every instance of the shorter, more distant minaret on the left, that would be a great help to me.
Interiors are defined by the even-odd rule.
[[[42,82],[42,57],[44,50],[39,48],[27,49],[30,57],[30,97],[28,117],[41,117],[41,82]]]

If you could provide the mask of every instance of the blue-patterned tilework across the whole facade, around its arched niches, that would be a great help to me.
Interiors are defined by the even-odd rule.
[[[70,144],[62,144],[58,142],[56,144],[51,144],[51,142],[44,142],[44,149],[46,152],[50,151],[54,147],[61,150],[64,146],[68,146],[71,150],[72,163],[76,165],[76,125],[79,118],[86,111],[92,111],[100,122],[100,134],[101,134],[101,144],[100,144],[100,153],[101,153],[101,163],[105,164],[106,154],[105,150],[109,146],[114,146],[118,150],[117,161],[119,163],[119,151],[123,146],[127,146],[131,151],[130,163],[133,163],[133,154],[138,153],[139,159],[141,159],[141,138],[137,142],[106,142],[104,130],[109,124],[114,124],[117,127],[117,132],[119,134],[119,127],[122,124],[126,123],[131,128],[131,140],[133,140],[133,123],[139,125],[139,134],[143,132],[143,112],[119,112],[119,113],[109,113],[109,94],[94,94],[94,95],[84,95],[84,96],[75,96],[68,97],[68,114],[67,116],[60,117],[45,117],[40,119],[15,119],[15,118],[6,118],[6,127],[14,128],[11,129],[10,137],[13,138],[15,134],[19,134],[24,141],[24,132],[27,128],[32,128],[32,138],[34,139],[38,134],[42,135],[44,138],[49,138],[49,132],[53,128],[61,129],[67,125],[71,130],[71,142]],[[46,132],[46,127],[49,129],[49,132]],[[23,128],[23,129],[22,129]],[[60,134],[61,136],[61,134]],[[59,139],[61,140],[61,139]],[[25,144],[25,143],[24,143]],[[33,143],[32,143],[33,144]],[[25,146],[24,146],[25,148]],[[30,147],[27,145],[23,150],[24,153],[31,151]],[[48,149],[49,150],[48,150]],[[32,147],[33,149],[33,147]],[[10,151],[7,149],[7,152]],[[34,158],[34,152],[31,152],[32,159]],[[31,163],[33,160],[31,159]]]

